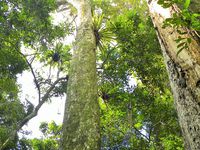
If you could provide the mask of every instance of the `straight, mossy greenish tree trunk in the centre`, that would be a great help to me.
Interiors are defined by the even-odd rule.
[[[62,150],[100,149],[96,42],[89,0],[75,1],[78,29],[71,60]]]

